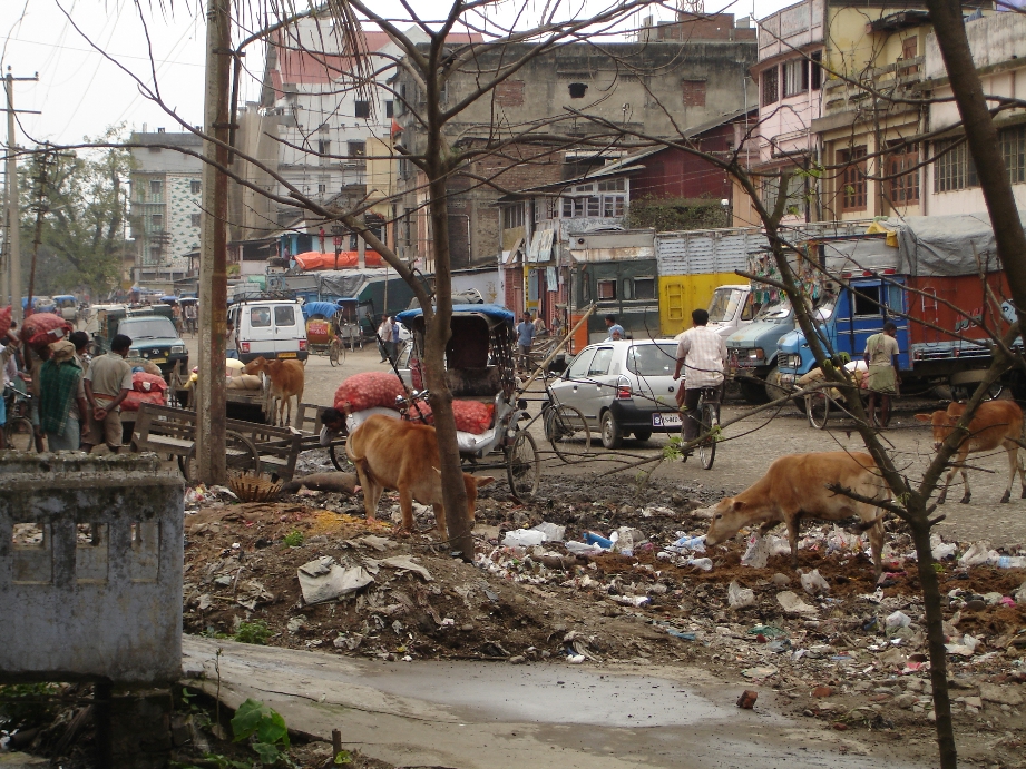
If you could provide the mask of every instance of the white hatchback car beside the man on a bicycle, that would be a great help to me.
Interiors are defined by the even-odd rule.
[[[673,339],[588,345],[553,383],[553,396],[580,411],[606,448],[617,448],[629,433],[638,441],[654,432],[677,435],[676,392],[684,383],[673,378],[676,352]]]

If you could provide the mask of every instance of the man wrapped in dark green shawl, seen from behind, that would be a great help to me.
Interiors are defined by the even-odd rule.
[[[81,416],[87,413],[82,378],[70,339],[52,343],[39,374],[39,424],[50,451],[78,451],[81,445]]]

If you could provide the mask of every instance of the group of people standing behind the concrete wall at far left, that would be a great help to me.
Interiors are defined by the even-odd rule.
[[[120,404],[131,391],[131,366],[125,359],[131,339],[118,334],[110,352],[90,361],[89,335],[74,332],[41,348],[21,344],[14,326],[0,339],[0,364],[4,391],[19,376],[31,398],[37,451],[91,451],[105,444],[117,453],[121,447]],[[7,424],[4,398],[0,398],[0,427]],[[0,448],[6,448],[0,430]]]

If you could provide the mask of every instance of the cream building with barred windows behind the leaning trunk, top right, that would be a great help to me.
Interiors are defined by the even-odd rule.
[[[984,92],[1015,98],[1026,86],[1026,18],[1019,13],[995,13],[966,22],[973,61]],[[934,34],[926,39],[922,62],[922,95],[935,99],[951,96],[951,86]],[[985,211],[983,190],[968,146],[960,139],[958,108],[954,101],[937,101],[929,107],[931,131],[950,130],[930,142],[932,162],[924,168],[922,213],[929,215]],[[1001,155],[1012,191],[1020,208],[1026,208],[1026,110],[1001,110],[995,118]]]

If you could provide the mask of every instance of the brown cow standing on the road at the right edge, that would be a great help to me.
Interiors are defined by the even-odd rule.
[[[958,420],[966,413],[966,404],[949,403],[947,411],[935,411],[932,414],[916,414],[920,422],[929,422],[934,427],[934,448],[940,450],[947,437],[955,430]],[[1012,499],[1012,484],[1015,483],[1016,472],[1020,475],[1023,484],[1023,499],[1026,500],[1026,469],[1019,463],[1019,444],[1016,443],[1023,435],[1023,410],[1013,401],[988,401],[979,404],[973,421],[968,425],[969,434],[952,454],[955,465],[944,481],[944,489],[937,497],[937,504],[944,504],[948,497],[948,486],[955,473],[961,471],[963,483],[966,484],[966,494],[961,497],[963,504],[968,504],[969,476],[966,473],[966,457],[981,451],[993,451],[1000,446],[1008,452],[1008,485],[1001,502]]]

